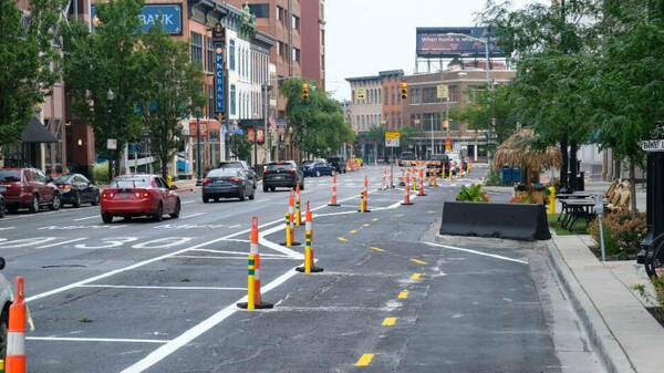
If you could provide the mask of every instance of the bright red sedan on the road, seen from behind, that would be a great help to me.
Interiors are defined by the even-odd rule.
[[[114,216],[127,219],[148,216],[153,221],[162,221],[164,214],[176,219],[180,200],[174,189],[157,175],[118,176],[102,191],[102,220],[111,222]]]

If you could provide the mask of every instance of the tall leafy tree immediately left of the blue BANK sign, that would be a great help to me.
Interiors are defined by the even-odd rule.
[[[89,32],[87,25],[72,20],[64,38],[64,73],[73,96],[75,121],[89,123],[94,129],[97,153],[106,152],[106,139],[117,139],[117,149],[138,138],[144,126],[136,104],[149,90],[149,71],[145,71],[141,49],[143,23],[142,0],[111,0],[96,6],[101,25]],[[113,133],[108,133],[106,92],[112,90]],[[114,152],[114,165],[120,169],[122,152]]]

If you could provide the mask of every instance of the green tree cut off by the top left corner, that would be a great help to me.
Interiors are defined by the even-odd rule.
[[[0,0],[0,145],[17,142],[60,79],[63,0],[31,0],[28,24],[14,1]]]

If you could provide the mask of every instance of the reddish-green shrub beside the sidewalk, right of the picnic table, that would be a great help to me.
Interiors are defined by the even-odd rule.
[[[608,256],[619,256],[619,259],[629,259],[641,250],[641,240],[647,232],[645,226],[645,214],[636,214],[632,219],[632,213],[621,210],[605,214],[602,217],[602,227],[604,228],[604,250]],[[594,219],[590,224],[588,231],[600,244],[600,224]]]

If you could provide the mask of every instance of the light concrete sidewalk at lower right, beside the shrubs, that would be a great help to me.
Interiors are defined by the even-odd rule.
[[[631,289],[650,284],[635,261],[602,265],[584,244],[588,236],[556,236],[548,247],[552,267],[570,296],[609,372],[662,372],[664,328]]]

